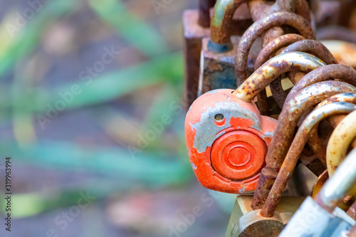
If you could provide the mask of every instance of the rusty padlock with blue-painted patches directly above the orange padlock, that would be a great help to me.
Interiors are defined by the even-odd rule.
[[[219,0],[211,17],[211,37],[203,39],[198,96],[209,90],[237,87],[234,73],[235,45],[253,23],[246,0]],[[234,48],[235,47],[235,48]],[[251,60],[260,48],[256,45]]]

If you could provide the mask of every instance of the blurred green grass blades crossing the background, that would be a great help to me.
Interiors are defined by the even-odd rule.
[[[130,14],[122,1],[53,0],[44,5],[26,26],[19,31],[13,31],[12,36],[6,27],[6,22],[13,20],[11,17],[16,9],[6,14],[0,25],[0,76],[5,78],[11,71],[14,72],[11,85],[4,80],[0,81],[0,122],[2,126],[12,124],[15,137],[14,140],[2,138],[0,149],[25,164],[66,171],[80,169],[104,175],[113,181],[108,181],[106,186],[98,185],[95,181],[88,181],[85,184],[88,189],[100,196],[130,189],[134,184],[157,188],[186,183],[192,178],[192,169],[185,151],[182,124],[176,120],[164,128],[166,131],[169,130],[169,135],[177,140],[173,147],[169,147],[162,135],[158,136],[147,149],[136,152],[133,156],[131,148],[127,148],[130,142],[118,141],[122,137],[125,138],[125,135],[119,136],[118,139],[115,139],[117,135],[112,135],[120,143],[115,147],[90,147],[90,149],[70,142],[55,142],[36,137],[34,115],[38,112],[44,114],[48,110],[46,105],[53,104],[59,99],[58,92],[70,90],[73,83],[61,85],[59,88],[44,89],[29,82],[22,68],[26,67],[26,58],[36,53],[40,39],[48,27],[63,16],[76,14],[81,4],[88,4],[100,21],[107,23],[117,36],[130,43],[130,47],[137,48],[147,57],[147,60],[132,68],[113,70],[100,75],[89,85],[83,80],[75,80],[83,92],[66,106],[66,110],[100,105],[95,109],[95,118],[104,131],[110,132],[120,126],[115,121],[122,121],[130,115],[112,110],[105,103],[120,99],[122,96],[133,95],[152,85],[158,86],[160,92],[154,96],[152,106],[145,113],[142,121],[125,119],[128,127],[136,127],[138,132],[143,133],[147,130],[150,121],[159,120],[163,114],[172,118],[177,117],[179,110],[182,110],[182,108],[172,110],[169,107],[172,102],[179,105],[182,96],[184,72],[182,53],[169,52],[167,44],[152,26]],[[179,118],[182,119],[182,116]],[[112,122],[111,127],[108,127],[108,121]],[[136,124],[140,124],[140,127]],[[128,137],[126,139],[130,140]],[[135,144],[131,145],[135,146]],[[117,182],[117,179],[125,181]],[[31,216],[41,211],[72,204],[75,200],[73,190],[62,192],[57,199],[46,194],[16,194],[14,200],[21,206],[14,216]]]

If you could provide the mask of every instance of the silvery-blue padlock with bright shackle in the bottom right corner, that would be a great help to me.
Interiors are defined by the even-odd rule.
[[[353,122],[355,122],[355,117]],[[336,169],[335,175],[324,184],[318,196],[314,200],[308,197],[303,202],[300,209],[284,228],[281,237],[348,235],[356,222],[350,216],[347,216],[344,211],[338,209],[337,204],[342,202],[351,189],[355,189],[355,158],[356,149],[353,149],[340,164],[340,167]]]

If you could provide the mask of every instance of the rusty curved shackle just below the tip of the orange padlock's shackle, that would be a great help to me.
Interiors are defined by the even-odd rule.
[[[325,80],[339,79],[356,86],[356,70],[341,64],[325,65],[316,68],[296,83],[286,98],[285,104],[298,93],[299,90]]]

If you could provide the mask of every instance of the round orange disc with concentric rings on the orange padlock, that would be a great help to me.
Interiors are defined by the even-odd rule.
[[[211,165],[227,179],[241,181],[258,174],[264,166],[266,143],[253,132],[234,130],[211,147]]]

